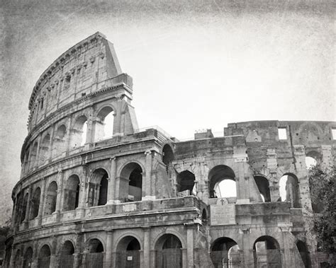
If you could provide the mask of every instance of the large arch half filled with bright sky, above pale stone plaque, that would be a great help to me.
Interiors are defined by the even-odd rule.
[[[227,165],[216,165],[208,175],[210,198],[237,197],[235,173]]]

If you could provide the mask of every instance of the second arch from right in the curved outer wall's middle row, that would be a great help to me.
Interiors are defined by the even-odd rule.
[[[89,182],[89,206],[102,206],[107,202],[108,173],[103,168],[94,170]]]

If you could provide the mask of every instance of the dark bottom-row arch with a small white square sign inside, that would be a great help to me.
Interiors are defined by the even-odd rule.
[[[133,236],[121,239],[117,246],[116,267],[140,267],[140,243]]]

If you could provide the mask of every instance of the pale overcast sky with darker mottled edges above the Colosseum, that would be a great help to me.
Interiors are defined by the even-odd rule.
[[[11,187],[35,82],[97,31],[133,77],[140,127],[185,139],[229,122],[335,120],[332,1],[22,2],[2,1],[0,23],[0,176]]]

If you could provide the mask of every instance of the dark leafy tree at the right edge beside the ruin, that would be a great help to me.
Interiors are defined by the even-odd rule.
[[[309,170],[310,197],[313,206],[313,231],[329,264],[336,267],[336,168],[316,165]]]

